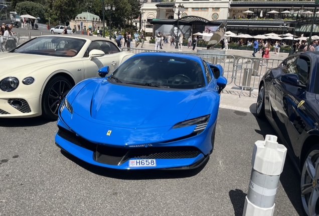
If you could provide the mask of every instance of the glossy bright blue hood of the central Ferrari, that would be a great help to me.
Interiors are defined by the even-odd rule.
[[[87,88],[86,88],[87,89]],[[191,90],[168,90],[145,88],[138,85],[125,86],[101,82],[91,94],[82,90],[72,103],[74,112],[90,116],[104,124],[123,127],[145,128],[174,125],[187,118],[201,92]],[[77,109],[83,101],[91,103],[90,110]],[[86,103],[86,102],[85,102]],[[84,107],[82,106],[82,107]],[[102,123],[101,122],[101,123]]]

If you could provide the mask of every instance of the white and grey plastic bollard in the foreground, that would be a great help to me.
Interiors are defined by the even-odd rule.
[[[244,216],[272,216],[280,173],[287,148],[278,144],[277,136],[266,135],[254,144],[251,176],[245,199]]]

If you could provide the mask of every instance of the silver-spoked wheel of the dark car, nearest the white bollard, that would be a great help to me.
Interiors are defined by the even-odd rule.
[[[301,169],[300,188],[301,203],[306,215],[319,215],[319,144],[315,144],[307,152]],[[319,164],[317,164],[319,165]],[[316,170],[317,169],[317,170]],[[309,208],[310,207],[310,208]]]

